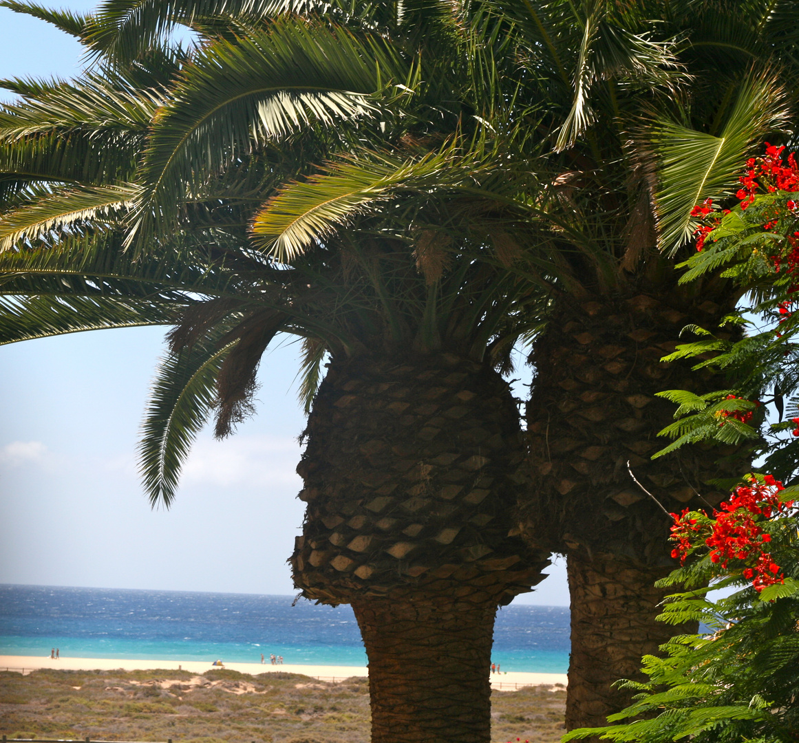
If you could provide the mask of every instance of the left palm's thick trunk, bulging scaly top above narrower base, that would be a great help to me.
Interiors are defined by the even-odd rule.
[[[297,471],[307,598],[351,603],[376,743],[487,743],[498,606],[543,578],[509,537],[525,487],[507,383],[457,356],[333,360]]]

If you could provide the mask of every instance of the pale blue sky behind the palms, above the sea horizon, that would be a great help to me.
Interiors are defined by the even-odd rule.
[[[0,8],[0,78],[80,70],[78,42]],[[136,471],[163,337],[130,328],[0,347],[0,583],[296,593],[297,345],[286,336],[264,355],[257,414],[236,435],[201,433],[167,511],[150,508]],[[515,603],[568,606],[562,558],[548,572]]]

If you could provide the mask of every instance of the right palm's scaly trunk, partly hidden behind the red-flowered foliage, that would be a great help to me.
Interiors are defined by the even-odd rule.
[[[654,622],[659,594],[651,585],[675,566],[662,507],[717,505],[724,495],[711,481],[741,466],[740,451],[736,464],[721,459],[734,449],[714,447],[650,459],[665,446],[657,433],[674,415],[655,393],[723,386],[690,364],[661,361],[689,321],[718,323],[724,308],[706,296],[675,289],[582,305],[563,300],[535,347],[527,406],[535,481],[521,511],[528,542],[565,552],[569,562],[567,729],[604,724],[627,698],[610,684],[629,677],[642,654],[670,636],[671,628]],[[628,462],[662,507],[630,478]]]

